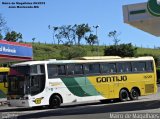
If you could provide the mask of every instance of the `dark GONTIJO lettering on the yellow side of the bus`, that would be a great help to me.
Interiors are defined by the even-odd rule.
[[[116,82],[116,81],[127,81],[127,76],[106,76],[106,77],[97,77],[96,82]]]

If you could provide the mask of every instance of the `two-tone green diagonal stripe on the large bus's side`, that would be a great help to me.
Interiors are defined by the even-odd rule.
[[[95,96],[99,95],[94,86],[86,77],[62,78],[66,87],[76,96]]]

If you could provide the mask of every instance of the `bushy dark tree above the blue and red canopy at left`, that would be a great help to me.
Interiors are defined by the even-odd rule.
[[[7,32],[4,39],[6,41],[17,42],[19,39],[22,39],[22,34],[17,33],[16,31]]]

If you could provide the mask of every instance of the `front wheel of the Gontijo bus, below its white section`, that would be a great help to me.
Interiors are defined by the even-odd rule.
[[[61,98],[58,95],[53,95],[50,99],[49,107],[58,108],[61,105]]]

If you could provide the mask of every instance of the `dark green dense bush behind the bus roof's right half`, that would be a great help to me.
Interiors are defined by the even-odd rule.
[[[137,48],[133,47],[131,43],[112,45],[104,50],[105,56],[121,56],[121,57],[134,57]]]

